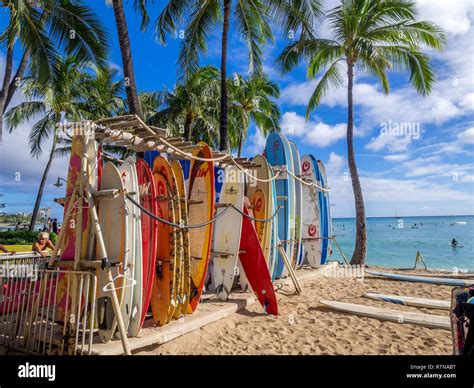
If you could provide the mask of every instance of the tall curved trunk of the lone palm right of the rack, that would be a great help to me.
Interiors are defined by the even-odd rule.
[[[347,161],[349,163],[349,171],[352,179],[352,190],[354,191],[355,209],[356,209],[356,241],[355,249],[352,254],[351,264],[364,265],[365,256],[367,254],[367,230],[365,227],[365,208],[364,198],[362,196],[362,188],[360,187],[359,174],[354,155],[354,107],[353,107],[353,81],[354,81],[354,64],[348,62],[347,66]]]

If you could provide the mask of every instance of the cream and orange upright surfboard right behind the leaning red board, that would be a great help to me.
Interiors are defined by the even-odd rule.
[[[257,179],[266,181],[273,177],[271,167],[263,155],[255,156],[252,161],[257,165],[257,167],[252,170]],[[247,177],[246,188],[247,197],[250,198],[255,217],[261,219],[270,218],[276,210],[276,204],[274,202],[274,182],[262,182]],[[260,193],[255,197],[254,194],[257,191],[260,191]],[[259,202],[259,199],[261,202]],[[261,203],[261,205],[258,205],[258,203]],[[273,221],[257,222],[255,225],[270,273],[273,273],[276,259],[276,250],[272,249],[272,223]]]

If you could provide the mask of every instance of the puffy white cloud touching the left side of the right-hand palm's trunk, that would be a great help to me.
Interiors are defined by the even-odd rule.
[[[282,133],[289,137],[298,137],[303,143],[327,147],[346,136],[344,123],[328,125],[323,122],[306,121],[296,112],[285,112],[281,120]]]

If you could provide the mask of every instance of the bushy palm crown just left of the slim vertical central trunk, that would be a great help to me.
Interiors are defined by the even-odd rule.
[[[164,126],[185,140],[207,140],[215,144],[219,126],[219,71],[204,66],[183,74],[172,91],[143,93],[147,121]]]

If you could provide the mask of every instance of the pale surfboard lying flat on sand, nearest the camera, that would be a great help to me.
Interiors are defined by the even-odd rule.
[[[432,315],[414,313],[401,310],[390,310],[380,307],[365,306],[356,303],[345,303],[334,300],[320,300],[319,303],[334,310],[359,315],[362,317],[375,318],[382,321],[390,321],[400,324],[412,324],[425,326],[432,329],[449,330],[449,317],[444,315]]]

